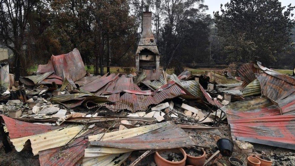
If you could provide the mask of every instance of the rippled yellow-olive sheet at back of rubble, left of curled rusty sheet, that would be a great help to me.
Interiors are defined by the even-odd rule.
[[[207,76],[210,77],[210,83],[214,84],[232,84],[232,83],[242,83],[240,80],[236,80],[233,78],[227,78],[226,76],[220,75],[213,71],[210,71]]]

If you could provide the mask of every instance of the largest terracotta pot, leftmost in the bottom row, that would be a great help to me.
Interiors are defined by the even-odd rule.
[[[163,152],[174,152],[174,153],[182,153],[183,159],[181,161],[169,161],[163,158],[160,154]],[[186,153],[183,148],[176,148],[176,149],[163,149],[156,151],[154,155],[155,163],[157,166],[185,166],[186,161]]]

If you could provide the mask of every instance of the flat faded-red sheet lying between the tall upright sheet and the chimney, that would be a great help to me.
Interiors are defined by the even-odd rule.
[[[102,77],[100,79],[87,83],[86,85],[82,86],[81,89],[86,90],[88,92],[96,92],[99,89],[101,89],[103,86],[107,85],[109,82],[114,80],[116,77],[118,77],[118,75],[119,74],[115,75],[114,73],[112,73],[111,75],[107,77]]]

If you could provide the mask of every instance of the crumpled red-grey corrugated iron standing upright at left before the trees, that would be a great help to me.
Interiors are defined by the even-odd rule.
[[[38,73],[45,73],[46,71],[52,71],[52,66],[54,68],[54,73],[63,79],[68,77],[73,81],[79,80],[86,75],[85,66],[81,58],[80,52],[77,48],[67,54],[61,54],[51,56],[51,61],[46,65],[38,66]]]

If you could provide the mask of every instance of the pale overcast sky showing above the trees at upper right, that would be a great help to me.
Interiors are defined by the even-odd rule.
[[[220,4],[226,4],[227,2],[229,2],[230,0],[204,0],[204,4],[208,5],[209,10],[207,11],[208,14],[213,15],[213,11],[219,11],[220,10]],[[295,5],[295,1],[294,0],[279,0],[280,2],[282,2],[283,6],[287,6],[290,3],[292,3],[292,5]]]

